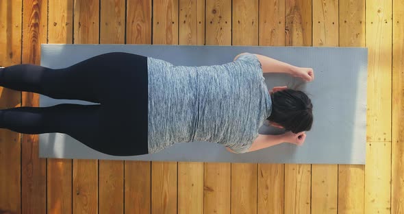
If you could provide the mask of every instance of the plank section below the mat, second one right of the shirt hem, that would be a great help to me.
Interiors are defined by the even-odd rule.
[[[203,163],[178,163],[178,213],[203,214]]]

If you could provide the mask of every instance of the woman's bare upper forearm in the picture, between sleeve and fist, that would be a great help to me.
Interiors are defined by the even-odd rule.
[[[290,75],[294,75],[296,72],[297,67],[293,66],[292,64],[281,62],[260,54],[255,54],[255,56],[257,56],[258,60],[260,60],[262,64],[262,71],[264,73],[288,73]]]

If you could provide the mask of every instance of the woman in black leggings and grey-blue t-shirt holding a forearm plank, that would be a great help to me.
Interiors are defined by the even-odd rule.
[[[115,156],[154,153],[190,141],[220,143],[236,153],[283,142],[301,145],[313,121],[310,99],[284,87],[268,92],[262,71],[314,79],[312,69],[251,53],[205,67],[130,53],[105,53],[65,69],[14,65],[0,69],[0,86],[96,104],[0,110],[0,128],[60,132]],[[258,134],[266,119],[289,132]]]

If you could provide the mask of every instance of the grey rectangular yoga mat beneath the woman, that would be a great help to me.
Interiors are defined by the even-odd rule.
[[[168,60],[173,64],[194,66],[222,64],[233,60],[238,53],[250,52],[270,56],[299,67],[312,67],[316,79],[308,84],[283,74],[264,74],[264,78],[268,88],[286,85],[307,92],[314,104],[314,126],[310,132],[307,132],[307,139],[303,146],[297,147],[283,143],[246,154],[229,153],[223,146],[215,143],[193,142],[177,143],[156,154],[118,157],[94,151],[66,134],[40,134],[41,157],[231,163],[365,163],[368,60],[366,48],[42,45],[41,64],[58,69],[113,51],[138,53]],[[40,97],[40,106],[60,103],[90,104]],[[262,126],[260,132],[278,134],[283,130]],[[130,133],[127,134],[128,141],[139,143]]]

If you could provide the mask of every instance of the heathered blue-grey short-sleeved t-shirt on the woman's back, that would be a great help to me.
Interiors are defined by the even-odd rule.
[[[270,116],[270,95],[253,54],[203,67],[155,58],[147,64],[149,153],[190,141],[220,143],[244,153]]]

